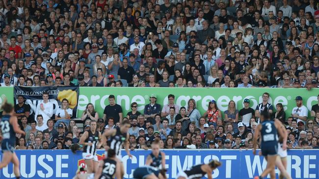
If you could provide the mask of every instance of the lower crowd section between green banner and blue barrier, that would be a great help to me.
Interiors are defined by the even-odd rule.
[[[126,115],[122,107],[116,104],[114,95],[110,95],[103,116],[99,116],[93,104],[87,104],[80,117],[83,129],[78,128],[67,99],[62,100],[61,107],[53,114],[53,104],[48,97],[48,93],[44,92],[43,102],[37,105],[37,112],[30,122],[30,107],[24,103],[23,96],[18,97],[15,112],[26,136],[16,134],[16,149],[69,149],[73,143],[79,142],[85,130],[90,129],[92,120],[97,121],[97,129],[102,134],[129,120],[131,150],[148,149],[155,139],[160,140],[162,149],[252,149],[255,129],[263,111],[269,112],[272,118],[286,127],[288,148],[319,148],[319,95],[318,104],[312,106],[311,116],[308,116],[301,96],[295,98],[291,116],[286,116],[281,103],[268,103],[267,92],[262,95],[263,102],[256,109],[249,107],[249,99],[244,99],[244,108],[236,108],[231,100],[228,110],[221,111],[216,101],[211,100],[205,113],[196,109],[194,99],[190,99],[186,107],[180,107],[175,104],[175,96],[169,94],[169,103],[161,107],[156,102],[157,95],[151,94],[150,103],[145,105],[143,113],[137,111],[137,103],[133,102],[132,111]]]

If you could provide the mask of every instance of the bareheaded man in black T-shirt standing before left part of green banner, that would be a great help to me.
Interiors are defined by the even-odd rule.
[[[113,117],[115,124],[117,122],[122,123],[122,118],[123,118],[122,107],[115,103],[115,96],[112,94],[109,95],[108,102],[109,102],[109,105],[105,107],[103,112],[103,119],[106,120],[109,117]]]

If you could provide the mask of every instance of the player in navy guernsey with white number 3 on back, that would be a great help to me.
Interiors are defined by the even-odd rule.
[[[275,179],[275,162],[276,157],[278,154],[278,134],[280,136],[284,136],[284,132],[281,129],[280,121],[270,121],[269,113],[264,111],[260,114],[260,120],[261,124],[257,126],[257,129],[255,130],[255,136],[254,136],[254,149],[253,154],[256,154],[256,148],[257,148],[257,139],[259,138],[261,143],[261,152],[262,155],[267,160],[267,167],[263,171],[263,173],[259,177],[255,177],[254,179],[264,179],[266,176],[270,173],[270,178]],[[259,137],[260,136],[260,137]],[[287,144],[286,142],[283,143],[283,150],[286,150]]]

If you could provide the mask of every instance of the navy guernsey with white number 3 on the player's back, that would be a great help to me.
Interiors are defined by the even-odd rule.
[[[277,129],[275,127],[274,121],[264,121],[262,123],[262,142],[261,146],[276,146],[278,145],[278,135]]]

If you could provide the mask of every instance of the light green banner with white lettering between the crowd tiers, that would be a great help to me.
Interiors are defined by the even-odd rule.
[[[13,88],[0,88],[0,103],[3,97],[7,97],[9,102],[13,102]],[[214,99],[221,111],[226,111],[230,100],[234,100],[237,109],[243,108],[243,100],[250,99],[250,107],[255,109],[258,103],[262,102],[262,94],[270,94],[269,103],[282,103],[286,116],[290,116],[292,108],[296,106],[295,97],[303,97],[303,105],[310,110],[312,105],[318,103],[319,89],[280,89],[280,88],[92,88],[80,87],[78,99],[78,117],[88,103],[92,103],[99,116],[103,116],[103,111],[108,105],[108,96],[115,95],[116,103],[122,106],[123,113],[131,111],[131,103],[137,103],[137,110],[144,111],[145,105],[149,104],[149,96],[157,94],[157,103],[161,106],[168,103],[167,95],[174,94],[175,102],[179,106],[187,106],[189,99],[196,101],[197,109],[203,114],[208,108],[208,102]],[[275,109],[275,106],[274,106]]]

